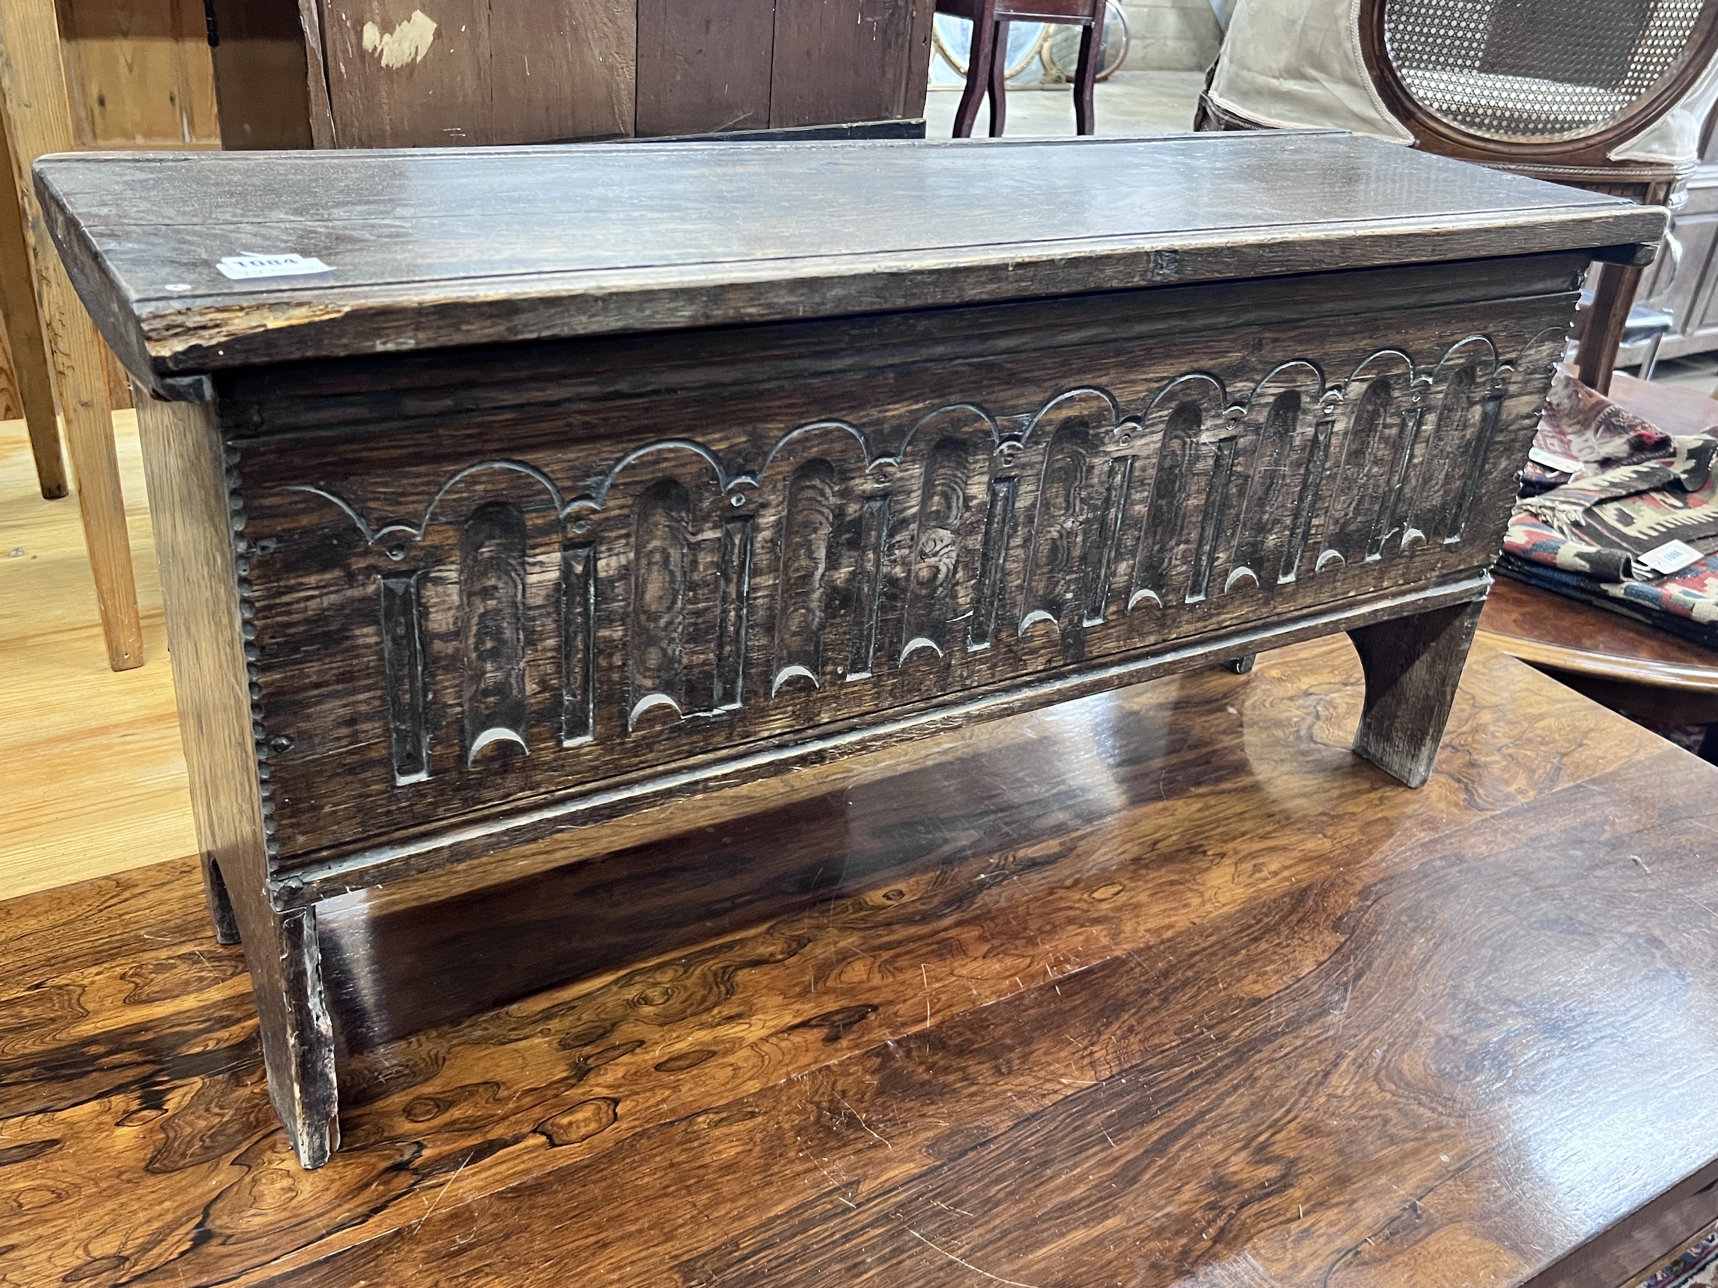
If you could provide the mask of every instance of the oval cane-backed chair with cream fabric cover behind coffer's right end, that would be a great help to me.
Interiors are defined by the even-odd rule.
[[[1718,0],[1242,0],[1196,129],[1340,125],[1675,206],[1718,96]],[[1641,266],[1606,264],[1581,380],[1610,386]]]

